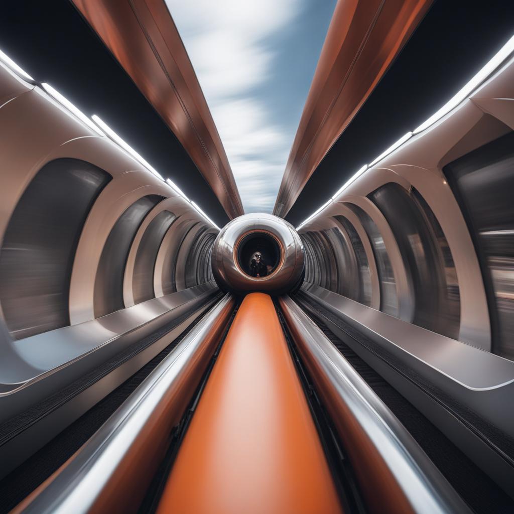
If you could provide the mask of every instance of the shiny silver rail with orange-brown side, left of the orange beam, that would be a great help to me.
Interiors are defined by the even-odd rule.
[[[137,511],[232,308],[226,295],[53,480],[14,512]]]

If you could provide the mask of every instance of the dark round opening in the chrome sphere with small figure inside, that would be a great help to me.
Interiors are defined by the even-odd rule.
[[[251,232],[237,246],[237,263],[250,277],[267,277],[277,269],[281,257],[279,242],[266,232]]]

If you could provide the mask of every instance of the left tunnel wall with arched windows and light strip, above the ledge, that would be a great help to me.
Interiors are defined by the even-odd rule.
[[[3,64],[0,125],[0,314],[12,340],[213,280],[218,230]]]

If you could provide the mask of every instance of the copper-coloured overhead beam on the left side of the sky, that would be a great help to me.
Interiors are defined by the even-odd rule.
[[[225,149],[166,4],[74,4],[177,136],[228,216],[243,214]]]

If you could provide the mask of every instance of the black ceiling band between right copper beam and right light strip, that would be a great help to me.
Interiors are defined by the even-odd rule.
[[[510,38],[514,4],[435,2],[286,216],[298,226],[363,164],[451,98]]]

